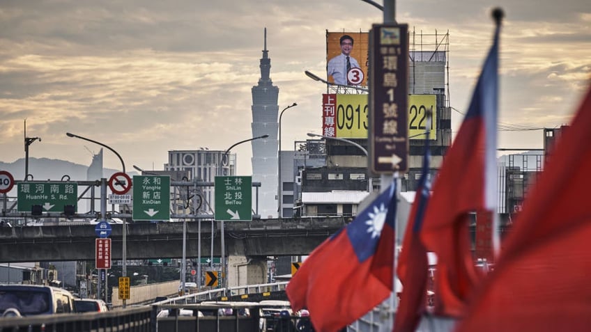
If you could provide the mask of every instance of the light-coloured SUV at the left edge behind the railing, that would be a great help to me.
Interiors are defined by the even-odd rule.
[[[20,317],[74,312],[68,290],[43,285],[0,285],[0,316]]]

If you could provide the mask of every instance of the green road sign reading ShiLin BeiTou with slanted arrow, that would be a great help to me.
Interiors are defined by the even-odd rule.
[[[215,177],[215,220],[252,221],[252,177]]]

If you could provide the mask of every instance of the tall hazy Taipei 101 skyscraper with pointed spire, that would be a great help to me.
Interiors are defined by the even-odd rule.
[[[252,182],[261,182],[259,188],[259,214],[262,219],[277,217],[277,97],[279,88],[273,86],[269,77],[271,60],[267,50],[267,29],[263,57],[261,58],[261,78],[252,87],[252,136],[268,134],[267,139],[252,141]],[[254,198],[254,195],[253,195]]]

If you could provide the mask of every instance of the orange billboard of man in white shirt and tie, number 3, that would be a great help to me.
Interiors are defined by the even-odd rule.
[[[342,43],[341,38],[344,38]],[[368,52],[369,33],[326,31],[327,81],[340,85],[367,86]]]

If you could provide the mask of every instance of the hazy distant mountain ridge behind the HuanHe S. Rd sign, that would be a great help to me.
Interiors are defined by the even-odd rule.
[[[74,164],[70,161],[29,157],[29,174],[33,175],[33,180],[36,181],[61,181],[63,175],[70,176],[70,181],[85,181],[88,169],[89,166]],[[24,180],[24,158],[17,159],[12,163],[0,161],[0,171],[10,172],[17,181]],[[103,168],[102,176],[109,179],[113,173],[120,171],[121,170]],[[137,175],[138,173],[128,172],[128,174]]]

